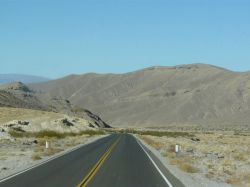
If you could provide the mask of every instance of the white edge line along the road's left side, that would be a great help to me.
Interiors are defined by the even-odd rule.
[[[107,136],[105,136],[105,137],[107,137]],[[103,138],[105,138],[105,137],[103,137]],[[93,142],[96,142],[97,140],[100,140],[100,139],[101,139],[101,138],[98,138],[98,139],[94,140]],[[9,180],[9,179],[11,179],[11,178],[13,178],[13,177],[16,177],[16,176],[18,176],[18,175],[20,175],[20,174],[23,174],[23,173],[25,173],[25,172],[27,172],[27,171],[29,171],[29,170],[32,170],[32,169],[34,169],[34,168],[36,168],[36,167],[39,167],[39,166],[41,166],[41,165],[43,165],[43,164],[46,164],[46,163],[48,163],[48,162],[50,162],[50,161],[52,161],[52,160],[55,160],[55,159],[57,159],[57,158],[59,158],[59,157],[62,157],[62,156],[64,156],[64,155],[66,155],[66,154],[69,154],[69,153],[71,153],[71,152],[73,152],[73,151],[75,151],[75,150],[77,150],[77,149],[80,149],[80,148],[82,148],[82,147],[84,147],[84,146],[86,146],[86,145],[88,145],[88,144],[91,144],[91,143],[93,143],[93,142],[88,142],[88,143],[86,143],[86,144],[77,146],[77,147],[75,147],[75,148],[73,148],[73,149],[71,149],[71,150],[68,150],[68,151],[66,151],[66,152],[64,152],[64,153],[62,153],[62,154],[59,154],[59,155],[57,155],[57,156],[55,156],[55,157],[52,157],[52,158],[50,158],[50,159],[48,159],[48,160],[45,160],[45,161],[43,161],[43,162],[41,162],[41,163],[39,163],[39,164],[36,164],[36,165],[34,165],[34,166],[31,166],[31,167],[29,167],[29,168],[27,168],[27,169],[25,169],[25,170],[23,170],[23,171],[19,171],[19,172],[15,173],[15,174],[12,174],[12,175],[10,175],[10,176],[8,176],[8,177],[6,177],[6,178],[1,179],[1,180],[0,180],[0,183],[5,182],[5,181],[7,181],[7,180]]]

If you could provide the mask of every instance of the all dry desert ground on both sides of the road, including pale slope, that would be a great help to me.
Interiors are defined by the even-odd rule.
[[[187,186],[250,186],[249,131],[195,125],[103,130],[54,112],[1,107],[0,114],[0,178],[115,132],[134,134]],[[175,145],[181,146],[178,153]]]

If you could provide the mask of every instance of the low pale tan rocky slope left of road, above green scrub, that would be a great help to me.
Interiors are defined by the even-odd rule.
[[[10,139],[11,132],[79,133],[97,130],[100,126],[94,119],[78,118],[66,114],[23,108],[0,107],[0,139]]]

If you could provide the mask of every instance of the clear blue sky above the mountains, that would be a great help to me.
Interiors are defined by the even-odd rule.
[[[250,70],[249,0],[0,0],[0,73]]]

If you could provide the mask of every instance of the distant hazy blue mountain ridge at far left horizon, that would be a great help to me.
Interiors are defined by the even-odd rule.
[[[21,74],[0,74],[0,84],[8,84],[12,82],[23,82],[27,83],[38,83],[38,82],[46,82],[50,79],[32,76],[32,75],[21,75]]]

